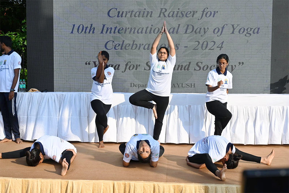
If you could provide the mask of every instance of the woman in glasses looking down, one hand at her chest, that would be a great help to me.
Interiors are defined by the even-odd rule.
[[[206,106],[208,111],[215,116],[214,135],[221,135],[223,129],[231,120],[232,114],[227,109],[228,90],[232,87],[232,74],[227,71],[229,57],[221,54],[216,61],[218,67],[209,72],[206,86]]]

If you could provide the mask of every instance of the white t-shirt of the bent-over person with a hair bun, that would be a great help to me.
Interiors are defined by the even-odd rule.
[[[230,143],[228,139],[220,135],[212,135],[205,137],[199,141],[188,152],[189,157],[197,153],[208,153],[212,158],[212,162],[219,161],[226,155],[227,145]],[[231,144],[231,143],[230,143]],[[232,153],[236,148],[233,145]]]

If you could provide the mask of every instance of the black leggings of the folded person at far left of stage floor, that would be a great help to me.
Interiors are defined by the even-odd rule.
[[[29,151],[31,147],[27,147],[27,148],[24,148],[24,149],[21,149],[21,150],[16,150],[16,151],[10,151],[10,152],[4,152],[2,153],[2,159],[10,159],[10,158],[20,158],[20,157],[25,157],[25,152],[26,151]],[[71,158],[73,156],[73,152],[72,151],[67,151],[67,150],[64,150],[61,154],[61,159],[63,160],[64,158],[66,158],[66,161],[67,163],[69,164],[68,165],[68,169],[70,167],[70,161],[71,161]],[[67,169],[67,170],[68,170]]]

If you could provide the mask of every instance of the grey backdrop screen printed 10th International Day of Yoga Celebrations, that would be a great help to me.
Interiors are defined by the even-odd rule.
[[[176,49],[171,93],[206,93],[229,56],[229,93],[270,93],[272,1],[53,1],[55,91],[89,92],[97,54],[110,54],[114,92],[147,87],[149,53],[166,21]],[[166,35],[159,46],[168,47]]]

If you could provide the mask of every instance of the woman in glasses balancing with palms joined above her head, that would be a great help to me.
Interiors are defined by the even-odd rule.
[[[157,46],[163,33],[166,34],[168,39],[170,51],[168,51],[167,47],[160,47],[157,52]],[[173,40],[166,28],[166,21],[164,21],[162,30],[155,38],[155,41],[151,47],[149,57],[151,72],[149,75],[147,88],[142,91],[138,91],[129,98],[129,102],[133,105],[153,109],[153,114],[155,117],[153,139],[155,140],[159,139],[164,114],[168,106],[169,95],[171,94],[172,73],[176,63],[175,53],[176,51]],[[156,105],[149,101],[154,101]]]

